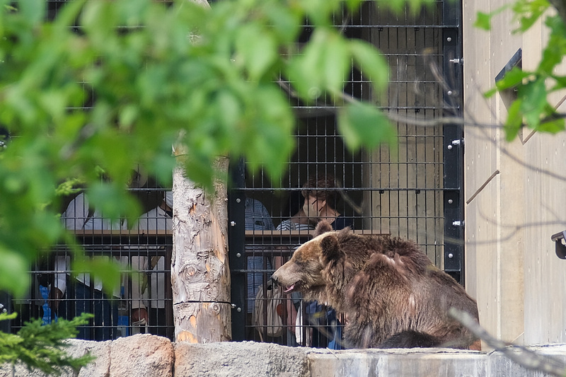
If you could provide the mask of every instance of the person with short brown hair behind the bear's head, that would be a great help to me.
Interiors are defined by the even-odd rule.
[[[313,175],[303,185],[301,194],[305,198],[303,211],[311,224],[326,220],[335,231],[350,226],[352,219],[336,209],[340,185],[333,175]],[[316,301],[306,304],[308,323],[313,325],[312,347],[342,349],[342,327],[336,311]]]

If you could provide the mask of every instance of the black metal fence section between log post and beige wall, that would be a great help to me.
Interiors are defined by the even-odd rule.
[[[437,122],[461,112],[460,14],[459,4],[450,1],[399,14],[379,1],[364,1],[359,13],[344,11],[335,18],[345,35],[376,45],[388,61],[391,83],[386,93],[373,93],[364,72],[355,69],[345,86],[349,95],[371,100],[389,115],[398,132],[396,146],[348,151],[337,133],[336,109],[326,98],[309,105],[290,98],[299,128],[284,178],[271,182],[261,171],[247,171],[245,163],[232,166],[233,181],[239,182],[230,199],[235,340],[340,348],[333,344],[333,324],[344,323],[340,313],[308,303],[299,306],[296,296],[282,298],[286,310],[279,310],[285,327],[280,335],[266,336],[265,324],[273,323],[266,311],[277,311],[275,306],[265,305],[263,318],[254,321],[259,288],[265,292],[279,263],[310,237],[306,226],[289,231],[286,224],[300,217],[301,187],[309,177],[334,178],[335,187],[310,188],[334,192],[333,209],[355,231],[415,240],[437,266],[463,282],[462,131],[457,124]],[[303,40],[310,31],[305,23]],[[259,221],[261,226],[249,221],[265,211],[270,221]],[[278,228],[282,225],[283,231]]]

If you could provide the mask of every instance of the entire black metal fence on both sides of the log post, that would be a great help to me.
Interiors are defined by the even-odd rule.
[[[48,1],[50,11],[57,11],[62,3]],[[355,69],[345,84],[349,95],[371,100],[391,117],[398,144],[375,151],[348,151],[337,133],[332,104],[323,98],[304,105],[289,96],[299,127],[287,173],[272,182],[262,171],[247,170],[245,162],[231,161],[233,340],[340,348],[337,329],[345,323],[340,313],[303,303],[299,296],[283,296],[282,305],[272,308],[283,329],[270,332],[265,327],[270,314],[267,305],[258,308],[255,299],[260,286],[269,291],[269,277],[275,268],[311,237],[314,222],[324,217],[319,212],[328,211],[313,204],[317,198],[322,202],[319,197],[326,199],[335,218],[340,215],[340,226],[415,240],[436,265],[463,281],[463,230],[458,225],[463,219],[461,128],[434,122],[461,112],[459,4],[436,1],[422,11],[408,9],[399,14],[380,4],[364,1],[359,13],[344,11],[335,23],[349,37],[367,40],[385,55],[391,68],[386,93],[373,93],[364,72]],[[305,23],[302,40],[310,31]],[[326,180],[309,185],[309,178]],[[165,189],[151,179],[142,179],[130,190],[139,196],[146,211],[160,207],[166,211]],[[305,195],[312,199],[307,207]],[[77,197],[70,197],[62,212],[73,199],[78,203]],[[79,224],[72,229],[87,255],[116,257],[122,261],[123,272],[133,265],[139,273],[131,278],[122,274],[121,289],[103,294],[96,279],[81,277],[79,282],[69,276],[69,250],[55,245],[49,260],[33,266],[28,297],[12,302],[22,313],[12,322],[12,330],[17,331],[22,321],[31,317],[42,317],[47,323],[56,315],[70,318],[80,311],[98,311],[100,320],[83,329],[81,337],[105,339],[151,332],[172,339],[170,228],[161,224],[163,218],[156,213],[148,214],[145,225],[140,223],[131,231],[125,230],[124,224],[96,223],[94,219],[103,216],[89,213],[88,204],[84,207],[82,203],[82,209],[76,204],[82,214],[77,210],[71,216],[74,224]],[[54,301],[57,298],[61,301]],[[256,323],[254,311],[261,315]]]

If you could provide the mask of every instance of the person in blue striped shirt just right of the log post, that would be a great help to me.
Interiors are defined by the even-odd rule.
[[[258,199],[252,199],[246,197],[246,202],[244,204],[245,211],[245,221],[246,221],[246,231],[272,231],[275,229],[273,225],[273,220],[269,211]],[[248,247],[246,251],[250,250]],[[263,284],[263,279],[266,276],[264,272],[255,272],[258,269],[271,269],[271,262],[269,258],[264,257],[261,254],[263,248],[257,248],[255,246],[251,247],[253,251],[253,256],[248,257],[248,322],[252,323],[252,313],[254,308],[255,296],[258,294],[259,286]],[[257,253],[257,254],[256,254]],[[271,274],[267,274],[267,278]],[[253,326],[248,327],[251,329],[248,331],[248,340],[252,340],[254,337]]]

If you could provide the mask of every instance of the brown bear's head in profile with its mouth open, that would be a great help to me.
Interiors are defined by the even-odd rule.
[[[316,291],[327,284],[323,269],[330,260],[336,260],[341,253],[338,233],[332,231],[328,222],[320,221],[314,238],[299,246],[291,260],[275,271],[272,279],[283,286],[287,294],[293,291],[316,294]]]

